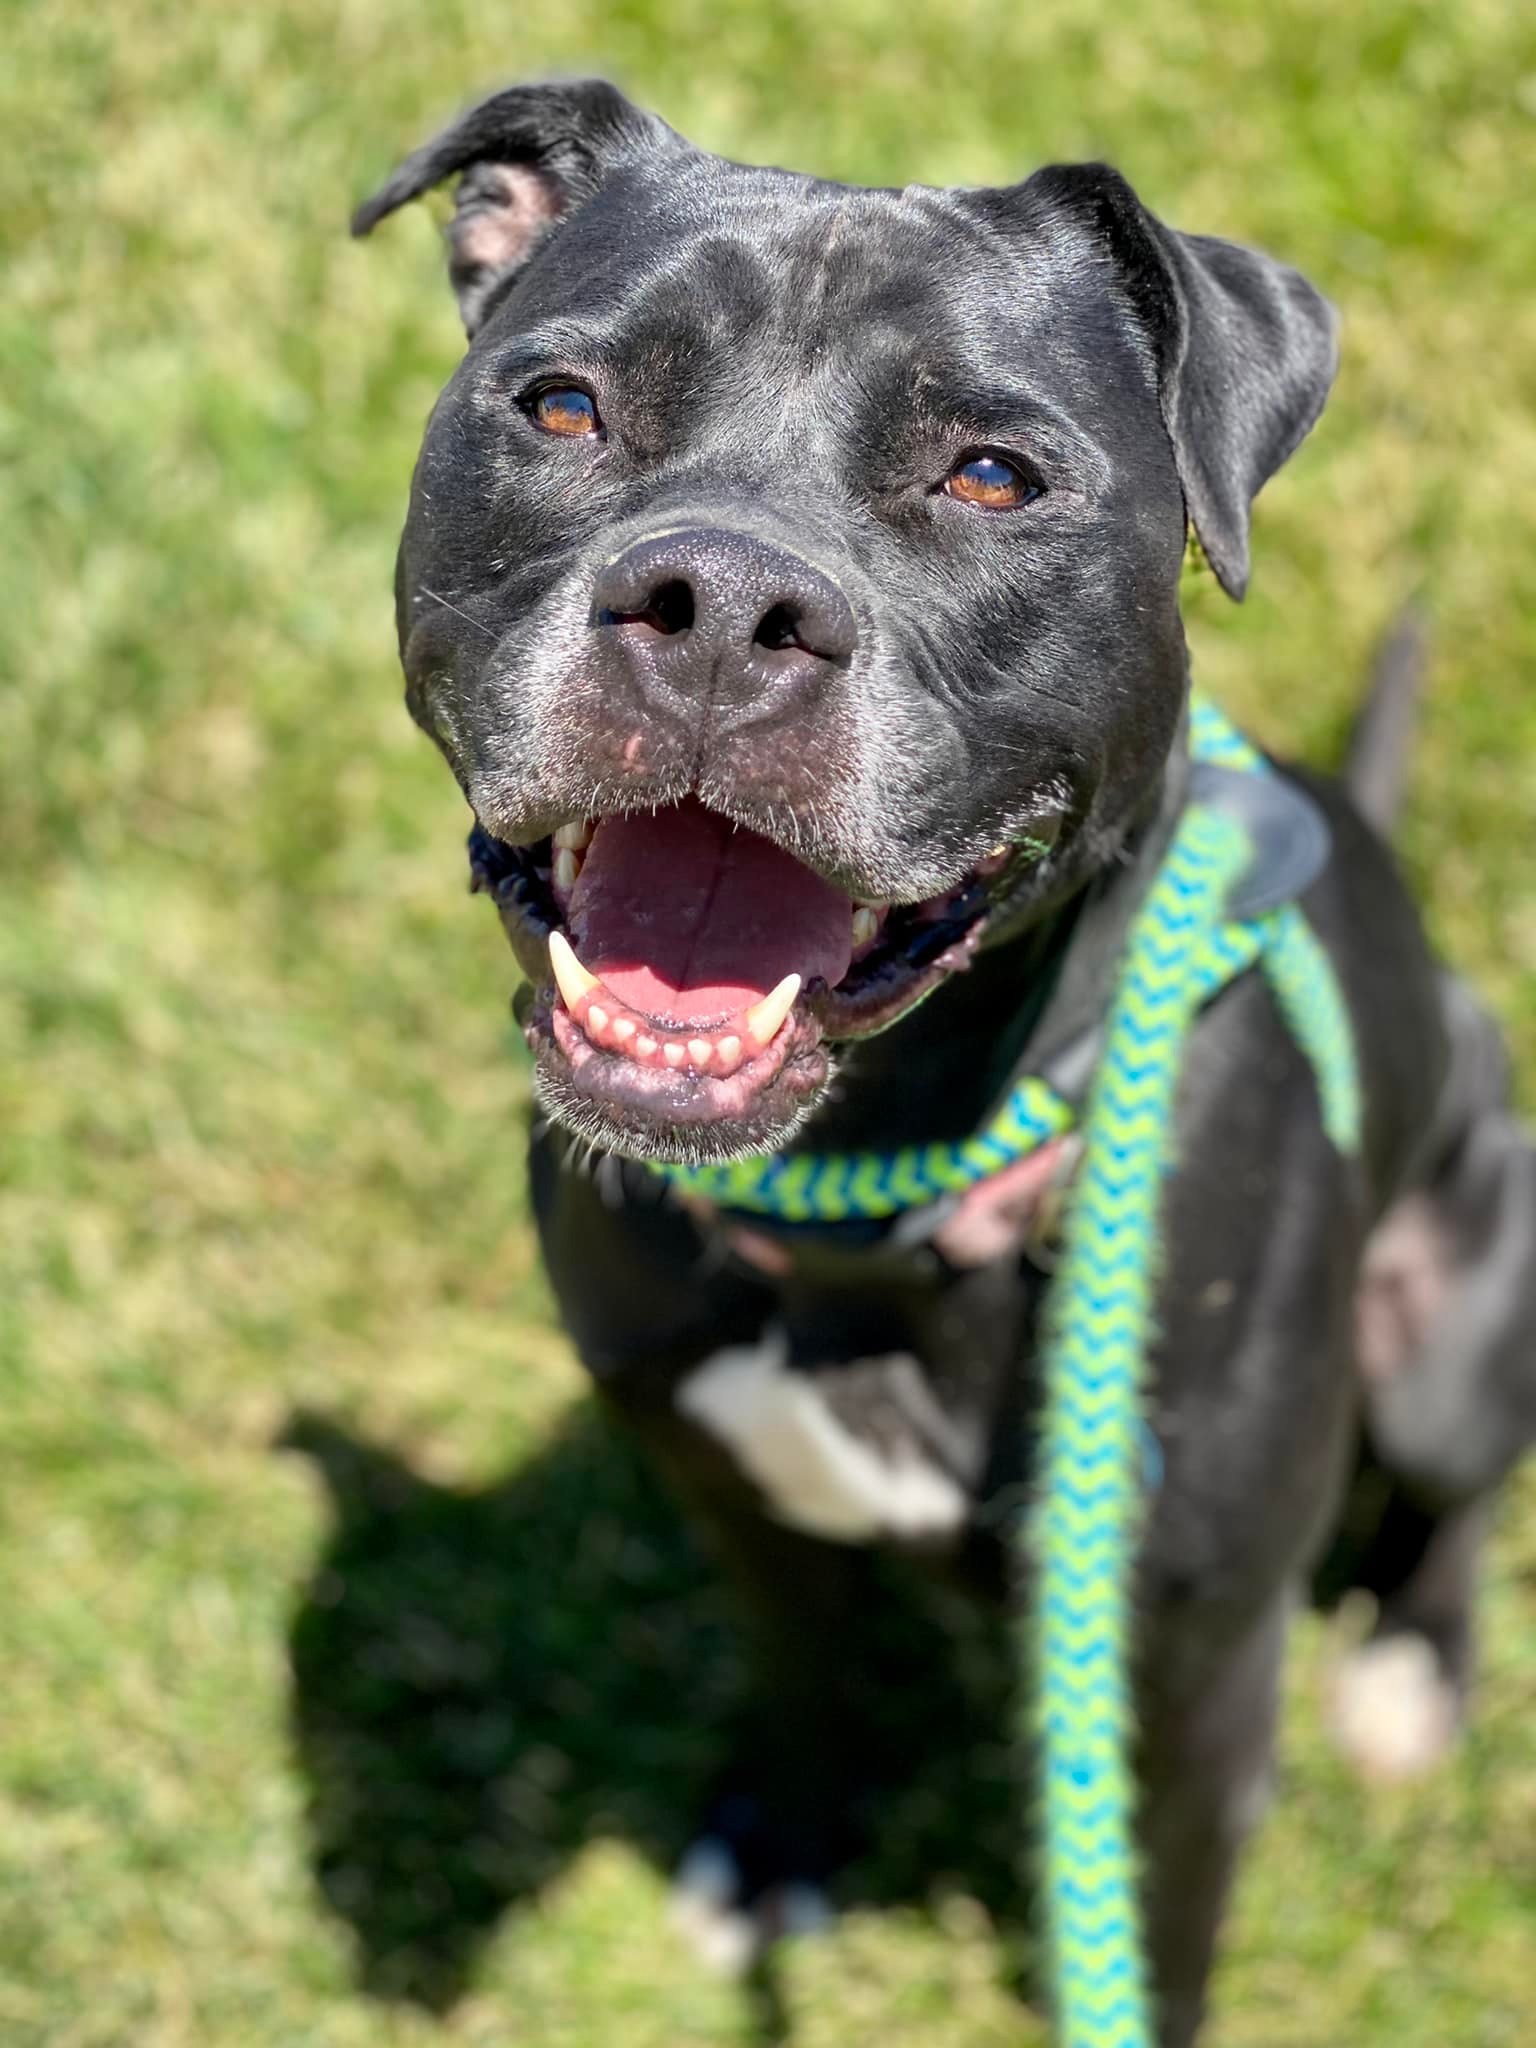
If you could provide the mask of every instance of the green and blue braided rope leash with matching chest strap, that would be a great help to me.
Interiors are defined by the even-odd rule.
[[[1266,801],[1280,778],[1208,702],[1192,707],[1190,756],[1190,801],[1126,930],[1081,1104],[1024,1075],[981,1130],[954,1143],[657,1169],[743,1219],[842,1225],[952,1200],[1077,1133],[1044,1311],[1034,1499],[1012,1532],[1030,1675],[1022,1733],[1040,1759],[1040,1888],[1063,2048],[1151,2048],[1155,2038],[1137,1896],[1133,1587],[1159,1196],[1200,1008],[1257,967],[1313,1067],[1323,1128],[1343,1153],[1360,1141],[1350,1014],[1294,901],[1327,858],[1327,827],[1288,786],[1294,803]]]

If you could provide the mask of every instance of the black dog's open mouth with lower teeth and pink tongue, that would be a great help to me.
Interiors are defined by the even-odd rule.
[[[516,848],[475,829],[532,995],[543,1092],[651,1157],[780,1145],[827,1077],[825,1040],[885,1030],[981,938],[999,848],[946,895],[860,903],[696,799],[580,819]]]

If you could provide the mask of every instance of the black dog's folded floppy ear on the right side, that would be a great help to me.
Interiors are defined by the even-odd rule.
[[[1163,227],[1108,164],[1053,164],[1026,190],[1087,225],[1118,270],[1155,352],[1190,524],[1241,598],[1249,506],[1333,383],[1333,307],[1270,256]]]

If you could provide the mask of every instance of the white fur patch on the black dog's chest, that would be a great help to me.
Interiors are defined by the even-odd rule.
[[[887,1456],[834,1415],[813,1374],[793,1372],[782,1331],[717,1352],[678,1407],[729,1446],[780,1522],[831,1542],[948,1536],[965,1489],[920,1450]]]

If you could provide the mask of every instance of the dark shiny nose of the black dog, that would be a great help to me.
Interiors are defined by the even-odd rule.
[[[594,621],[641,682],[743,711],[813,688],[858,643],[852,606],[825,571],[723,526],[635,541],[598,573]]]

